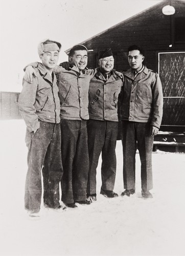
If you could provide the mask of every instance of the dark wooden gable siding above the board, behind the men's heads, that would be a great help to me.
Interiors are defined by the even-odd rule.
[[[164,15],[161,11],[168,4],[170,4],[170,1],[159,3],[141,14],[102,32],[102,34],[82,42],[88,49],[94,50],[94,53],[89,54],[88,67],[95,68],[97,63],[95,62],[94,55],[97,55],[100,49],[110,47],[113,52],[117,53],[116,65],[118,71],[126,70],[129,68],[127,48],[130,45],[136,44],[144,47],[148,68],[157,71],[157,51],[175,51],[185,48],[184,42],[183,44],[174,43],[174,20],[175,17],[185,16],[185,2],[171,1],[171,5],[176,10],[172,16]],[[172,48],[169,45],[172,45]]]

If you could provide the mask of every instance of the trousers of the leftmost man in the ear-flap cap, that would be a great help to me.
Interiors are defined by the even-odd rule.
[[[28,172],[25,186],[25,208],[30,211],[40,210],[43,174],[44,203],[49,207],[59,206],[59,183],[63,169],[61,162],[60,124],[40,121],[40,128],[35,134],[26,135],[28,145]]]

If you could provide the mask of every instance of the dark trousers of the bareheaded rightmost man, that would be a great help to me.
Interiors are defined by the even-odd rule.
[[[122,121],[123,179],[125,189],[135,188],[135,153],[138,147],[141,160],[142,189],[152,189],[153,137],[150,124]]]

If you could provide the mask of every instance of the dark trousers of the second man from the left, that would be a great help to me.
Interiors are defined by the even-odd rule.
[[[62,119],[60,126],[64,172],[62,201],[68,204],[86,200],[89,167],[86,121]]]

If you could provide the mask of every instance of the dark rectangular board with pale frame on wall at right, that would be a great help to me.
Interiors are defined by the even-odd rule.
[[[159,53],[158,59],[158,73],[164,94],[161,125],[185,127],[185,52]]]

